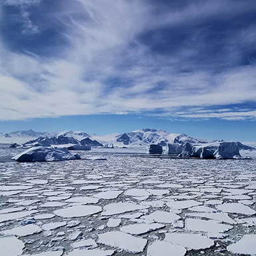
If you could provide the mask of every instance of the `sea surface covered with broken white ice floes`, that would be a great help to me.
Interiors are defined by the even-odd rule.
[[[256,255],[256,159],[78,153],[0,162],[1,256]]]

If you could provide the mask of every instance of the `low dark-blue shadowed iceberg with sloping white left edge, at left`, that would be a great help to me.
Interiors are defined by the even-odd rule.
[[[18,162],[53,162],[78,159],[80,159],[80,156],[78,154],[71,154],[67,148],[43,146],[29,148],[25,152],[11,158],[11,160]]]

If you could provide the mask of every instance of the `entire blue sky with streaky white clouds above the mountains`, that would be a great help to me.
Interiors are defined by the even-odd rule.
[[[255,0],[1,0],[0,132],[256,141]]]

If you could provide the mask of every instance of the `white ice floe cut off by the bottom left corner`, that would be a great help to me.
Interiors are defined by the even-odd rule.
[[[25,244],[14,236],[0,237],[1,255],[18,256],[21,255]]]

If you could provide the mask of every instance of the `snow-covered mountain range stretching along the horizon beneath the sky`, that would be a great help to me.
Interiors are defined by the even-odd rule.
[[[192,138],[186,134],[174,134],[160,129],[140,128],[132,132],[125,132],[124,134],[108,134],[108,135],[96,135],[88,134],[83,131],[68,130],[65,132],[35,132],[33,130],[10,132],[9,134],[0,134],[0,143],[20,143],[23,144],[28,141],[42,140],[39,137],[51,138],[51,141],[64,140],[68,137],[68,143],[71,143],[72,138],[82,142],[82,144],[93,144],[94,146],[114,145],[118,147],[147,147],[150,144],[160,144],[166,146],[167,144],[185,144],[189,142],[191,144],[204,144],[208,143],[207,140]],[[67,139],[67,138],[66,138]],[[74,140],[74,141],[75,141]],[[72,142],[73,143],[73,142]],[[74,142],[75,143],[75,142]],[[254,150],[253,146],[247,146],[237,142],[242,150]]]

